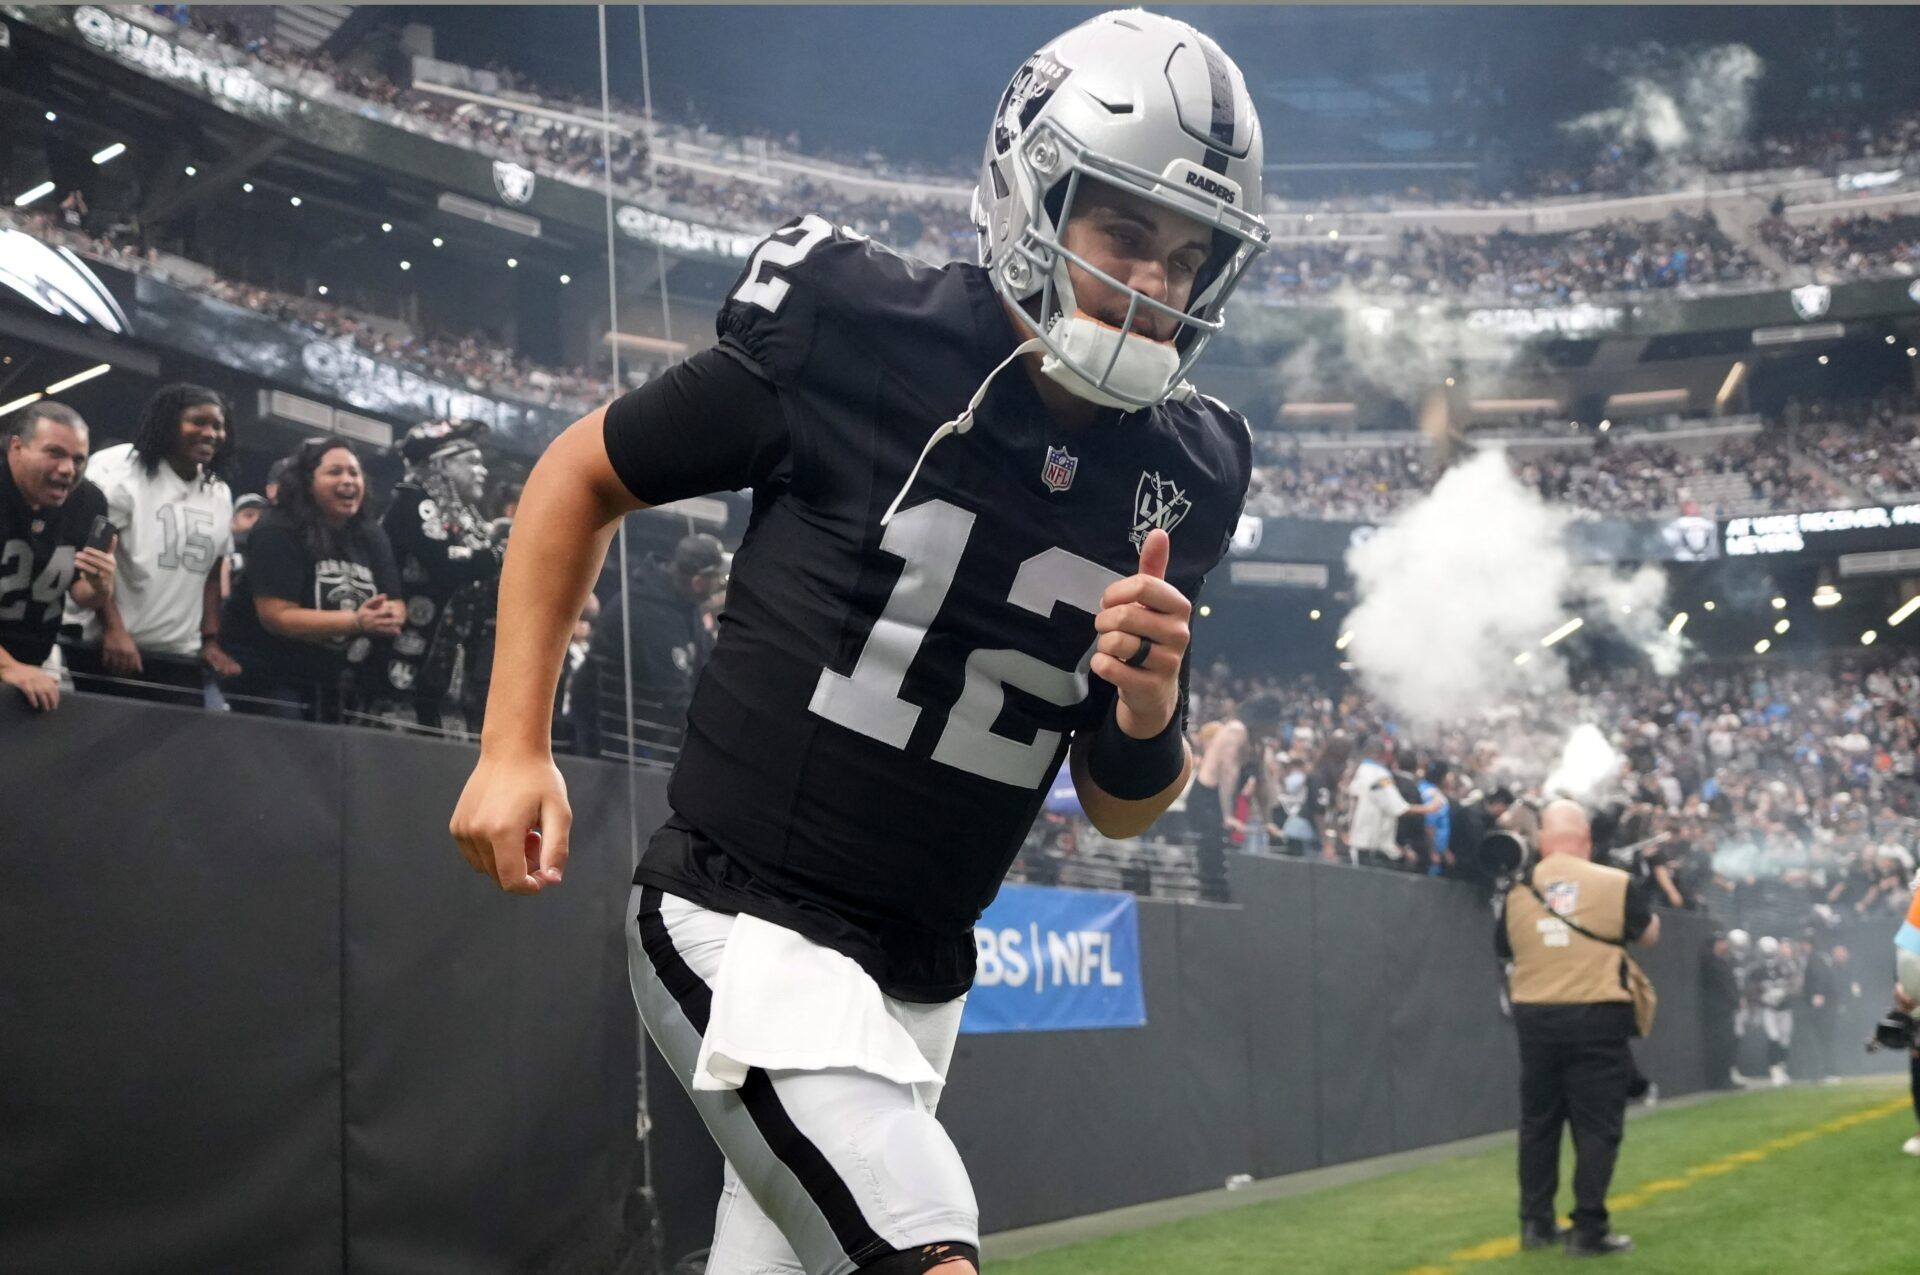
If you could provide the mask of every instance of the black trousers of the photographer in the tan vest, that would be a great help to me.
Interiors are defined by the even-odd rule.
[[[1607,1187],[1626,1131],[1626,1039],[1521,1037],[1521,1221],[1553,1227],[1561,1127],[1572,1125],[1572,1225],[1607,1233]]]

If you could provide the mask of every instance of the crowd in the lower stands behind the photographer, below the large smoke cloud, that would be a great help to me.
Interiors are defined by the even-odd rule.
[[[1323,854],[1486,881],[1455,830],[1528,830],[1572,724],[1592,722],[1617,755],[1603,835],[1674,908],[1757,933],[1799,935],[1908,902],[1920,851],[1920,657],[1839,657],[1822,668],[1695,664],[1676,678],[1609,670],[1553,693],[1517,693],[1475,720],[1407,730],[1361,686],[1311,676],[1194,678],[1196,755],[1221,722],[1260,716],[1265,734],[1238,793],[1256,853]],[[1373,741],[1373,743],[1369,743]],[[1375,758],[1405,805],[1392,843],[1354,845]]]

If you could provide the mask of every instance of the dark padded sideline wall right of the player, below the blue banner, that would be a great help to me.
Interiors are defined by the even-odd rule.
[[[1498,1008],[1492,912],[1469,887],[1236,860],[1244,906],[1140,901],[1146,1027],[960,1037],[941,1119],[987,1231],[1511,1129],[1519,1056]],[[1713,922],[1663,912],[1642,1070],[1707,1083],[1699,985]],[[1849,933],[1862,997],[1841,1071],[1885,1006],[1895,922]],[[1885,974],[1884,974],[1885,972]],[[1632,1154],[1628,1150],[1628,1154]]]

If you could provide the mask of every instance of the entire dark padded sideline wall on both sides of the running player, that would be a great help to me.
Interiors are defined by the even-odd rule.
[[[628,778],[563,758],[566,883],[509,899],[445,820],[474,753],[108,699],[0,697],[0,1271],[601,1271],[630,1185]],[[637,776],[634,824],[664,814]],[[1140,901],[1148,1025],[968,1035],[941,1118],[987,1231],[1511,1127],[1492,918],[1452,883],[1236,862]],[[1668,1095],[1699,952],[1645,956]],[[1884,1008],[1893,922],[1851,931]],[[1887,1070],[1839,1050],[1845,1070]],[[653,1058],[666,1254],[718,1156]]]

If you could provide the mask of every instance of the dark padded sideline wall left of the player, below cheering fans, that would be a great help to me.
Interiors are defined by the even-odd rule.
[[[0,697],[0,1269],[595,1269],[634,1139],[626,778],[563,762],[566,883],[509,899],[445,833],[472,758]]]

